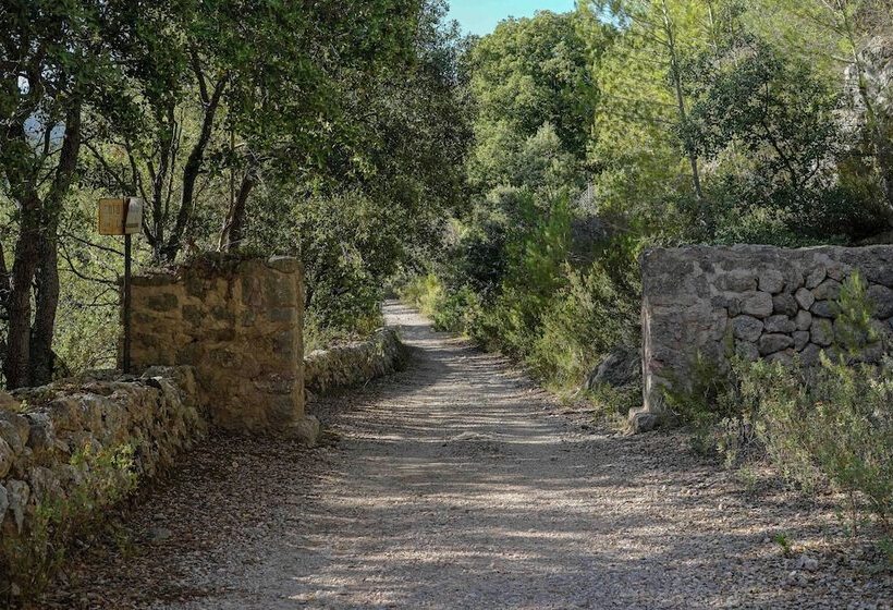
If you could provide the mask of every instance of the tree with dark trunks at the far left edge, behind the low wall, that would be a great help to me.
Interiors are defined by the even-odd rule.
[[[12,268],[0,260],[11,388],[52,375],[59,216],[77,171],[84,109],[101,102],[98,91],[115,74],[101,46],[103,10],[89,0],[0,7],[0,187],[17,224]]]

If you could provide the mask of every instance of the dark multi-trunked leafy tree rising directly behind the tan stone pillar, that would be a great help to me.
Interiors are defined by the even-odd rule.
[[[210,241],[215,231],[196,227],[212,213],[203,207],[225,217],[219,247],[237,247],[265,172],[307,174],[350,137],[339,73],[402,52],[418,10],[394,0],[346,13],[334,1],[124,5],[117,47],[131,57],[127,95],[102,125],[111,142],[90,151],[109,187],[149,203],[144,232],[158,261],[173,261],[201,232]],[[224,211],[217,179],[227,173]]]

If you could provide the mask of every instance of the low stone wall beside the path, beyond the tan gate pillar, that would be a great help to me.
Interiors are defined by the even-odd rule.
[[[395,330],[383,328],[365,341],[316,350],[304,358],[304,382],[313,393],[363,385],[405,365],[406,347]]]

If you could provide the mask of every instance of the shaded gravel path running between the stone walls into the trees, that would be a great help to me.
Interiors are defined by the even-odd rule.
[[[890,572],[840,542],[833,507],[737,483],[681,435],[594,428],[386,313],[413,364],[315,405],[322,447],[211,439],[44,607],[890,608]]]

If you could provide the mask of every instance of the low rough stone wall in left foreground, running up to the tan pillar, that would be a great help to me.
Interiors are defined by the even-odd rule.
[[[188,367],[0,392],[0,600],[207,430]]]

